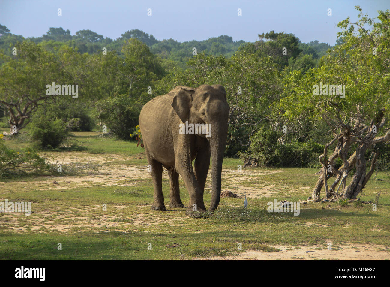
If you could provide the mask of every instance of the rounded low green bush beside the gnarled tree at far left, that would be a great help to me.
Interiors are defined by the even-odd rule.
[[[69,128],[61,119],[34,118],[30,139],[34,148],[57,148],[69,136]]]

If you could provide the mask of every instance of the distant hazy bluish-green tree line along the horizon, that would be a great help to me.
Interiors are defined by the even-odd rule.
[[[273,31],[271,31],[271,33],[273,33]],[[281,35],[285,35],[286,38],[289,38],[292,34],[287,35],[281,33]],[[91,30],[79,30],[76,31],[76,34],[71,35],[69,29],[65,30],[62,27],[51,27],[46,34],[42,35],[42,37],[30,37],[25,39],[21,35],[12,34],[4,25],[0,27],[0,50],[3,50],[7,55],[11,55],[11,51],[9,50],[10,45],[14,47],[17,41],[30,40],[54,53],[61,46],[67,45],[76,48],[79,53],[101,53],[102,49],[106,48],[108,51],[116,51],[119,56],[123,57],[122,46],[129,39],[140,40],[149,47],[153,54],[161,59],[167,60],[166,66],[168,70],[174,66],[185,68],[188,59],[193,57],[193,48],[197,49],[197,53],[231,57],[241,46],[249,44],[243,40],[233,41],[232,37],[226,35],[212,37],[203,41],[193,40],[183,43],[175,41],[174,39],[157,40],[153,35],[149,35],[138,29],[128,30],[121,34],[121,37],[113,40]],[[331,47],[326,43],[319,43],[318,41],[312,41],[310,43],[301,43],[299,39],[297,39],[297,41],[299,42],[303,55],[312,54],[314,59],[322,57],[326,53],[326,50]],[[261,41],[257,43],[260,42]],[[278,39],[278,44],[283,44],[281,39]],[[256,46],[258,46],[258,44],[256,44]]]

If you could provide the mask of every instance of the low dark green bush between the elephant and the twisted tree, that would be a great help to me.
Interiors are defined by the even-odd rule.
[[[278,143],[282,133],[266,126],[252,136],[247,153],[240,157],[256,159],[260,166],[278,167],[320,167],[318,157],[324,151],[324,146],[312,140],[307,143]]]

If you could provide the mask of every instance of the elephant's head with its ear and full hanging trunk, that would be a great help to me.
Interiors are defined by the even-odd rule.
[[[212,198],[209,211],[215,210],[221,198],[221,174],[223,152],[226,147],[229,104],[226,102],[226,91],[222,85],[202,85],[196,89],[176,87],[172,107],[181,121],[195,125],[197,136],[205,137],[211,148],[212,157]],[[196,128],[197,127],[197,128]],[[210,130],[203,127],[210,127]]]

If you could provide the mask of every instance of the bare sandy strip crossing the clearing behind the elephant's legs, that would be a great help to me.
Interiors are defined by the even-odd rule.
[[[151,174],[147,171],[147,165],[126,165],[115,163],[115,160],[129,160],[131,157],[116,154],[89,154],[87,152],[72,152],[68,153],[45,153],[45,156],[50,158],[53,164],[70,164],[76,162],[100,164],[99,172],[97,174],[90,174],[87,176],[50,176],[50,180],[29,180],[28,184],[24,184],[21,188],[47,190],[47,189],[69,189],[75,187],[92,187],[92,186],[133,186],[137,182],[126,182],[126,179],[150,179]],[[244,182],[253,181],[255,175],[269,175],[272,173],[283,172],[275,171],[254,171],[247,170],[245,175],[235,169],[222,170],[222,189],[221,191],[230,190],[229,187],[234,186],[232,190],[234,193],[244,194],[248,198],[258,198],[259,196],[271,196],[275,194],[275,185],[257,185],[246,186]],[[169,179],[168,172],[163,169],[163,178]],[[180,178],[181,180],[181,178]],[[7,189],[12,182],[0,183],[0,188]],[[211,169],[207,175],[205,192],[211,192]]]

